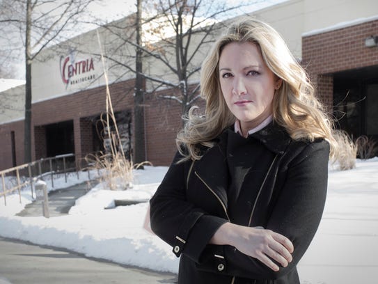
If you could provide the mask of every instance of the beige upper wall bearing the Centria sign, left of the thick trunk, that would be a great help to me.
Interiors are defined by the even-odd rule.
[[[131,25],[131,19],[121,19],[41,52],[32,65],[33,103],[104,86],[104,70],[109,84],[133,78],[134,74],[119,64],[134,67],[134,62],[127,60],[134,56],[135,48],[125,42],[134,41]]]

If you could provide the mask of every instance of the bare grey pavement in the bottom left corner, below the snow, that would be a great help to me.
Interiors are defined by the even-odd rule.
[[[0,284],[164,284],[177,276],[0,237]]]

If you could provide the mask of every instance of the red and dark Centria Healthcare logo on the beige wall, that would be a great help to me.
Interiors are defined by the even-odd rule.
[[[84,81],[95,79],[95,64],[93,58],[77,60],[71,53],[69,56],[61,56],[61,78],[67,88],[69,85],[79,84]]]

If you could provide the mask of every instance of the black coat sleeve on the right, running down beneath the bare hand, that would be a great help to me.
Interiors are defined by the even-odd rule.
[[[288,237],[294,244],[293,260],[288,267],[273,271],[255,258],[244,255],[232,246],[224,246],[224,274],[252,279],[277,279],[288,274],[306,252],[319,226],[326,199],[329,144],[310,143],[295,157],[278,195],[266,228]],[[201,265],[202,269],[206,265]]]

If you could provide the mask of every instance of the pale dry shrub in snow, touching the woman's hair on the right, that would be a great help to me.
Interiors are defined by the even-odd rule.
[[[333,136],[338,142],[338,155],[333,158],[333,163],[338,165],[340,171],[347,171],[356,167],[357,147],[349,134],[344,130],[335,130]]]

